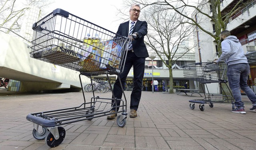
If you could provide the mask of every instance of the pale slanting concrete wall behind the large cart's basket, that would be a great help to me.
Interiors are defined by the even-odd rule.
[[[21,81],[20,92],[81,89],[80,72],[31,58],[29,46],[19,38],[0,32],[0,45],[0,77]],[[82,76],[82,82],[90,80]]]

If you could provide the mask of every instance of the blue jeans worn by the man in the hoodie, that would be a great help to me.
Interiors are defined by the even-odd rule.
[[[250,101],[252,101],[252,104],[256,105],[256,95],[247,84],[249,74],[249,64],[233,64],[228,66],[228,84],[234,96],[235,106],[238,108],[244,108],[240,88],[245,92]]]

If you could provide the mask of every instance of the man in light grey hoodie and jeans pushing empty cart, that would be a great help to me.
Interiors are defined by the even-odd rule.
[[[244,56],[242,45],[238,38],[232,36],[227,30],[220,33],[220,41],[222,54],[220,58],[214,60],[214,62],[219,63],[225,61],[228,65],[228,84],[232,90],[236,106],[232,112],[246,114],[240,88],[246,93],[250,101],[252,101],[252,108],[250,108],[250,110],[256,111],[256,95],[247,84],[250,66],[246,56]]]

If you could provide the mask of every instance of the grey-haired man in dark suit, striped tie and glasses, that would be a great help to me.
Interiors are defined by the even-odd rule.
[[[126,77],[133,66],[134,74],[134,86],[132,94],[130,96],[130,117],[137,117],[137,109],[140,103],[141,91],[142,91],[142,79],[144,76],[145,59],[148,57],[148,50],[144,43],[144,36],[148,32],[148,24],[146,21],[138,20],[140,16],[140,6],[138,4],[132,4],[130,7],[130,20],[120,24],[116,34],[126,36],[132,39],[132,45],[128,46],[126,62],[123,68],[122,74],[120,74],[120,80],[122,86],[126,81]],[[131,36],[132,35],[132,36]],[[113,88],[114,95],[112,98],[122,98],[122,88],[120,86],[119,79],[116,80]],[[114,103],[114,100],[112,100]],[[117,100],[116,106],[120,106],[120,101]],[[115,104],[113,105],[115,106]],[[119,108],[119,107],[118,107]],[[117,111],[118,111],[117,108]],[[116,108],[112,108],[108,119],[114,119],[116,117]]]

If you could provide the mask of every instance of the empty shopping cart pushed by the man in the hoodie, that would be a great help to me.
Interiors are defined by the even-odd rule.
[[[227,85],[227,66],[225,63],[213,63],[213,62],[200,62],[195,64],[189,64],[182,66],[183,68],[183,74],[184,77],[188,80],[194,80],[197,82],[200,82],[200,85],[202,86],[203,92],[204,92],[204,99],[196,99],[196,100],[189,100],[190,102],[190,108],[195,108],[195,103],[200,104],[199,108],[201,111],[204,111],[204,104],[209,104],[209,106],[212,108],[214,103],[228,103],[231,102],[232,109],[234,109],[234,98],[233,96],[229,96],[224,91],[222,84],[226,85],[226,88],[231,94],[231,91]],[[207,84],[210,83],[219,83],[220,85],[220,92],[222,95],[214,95],[210,94]],[[203,88],[207,89],[208,95],[206,96],[206,92]]]

